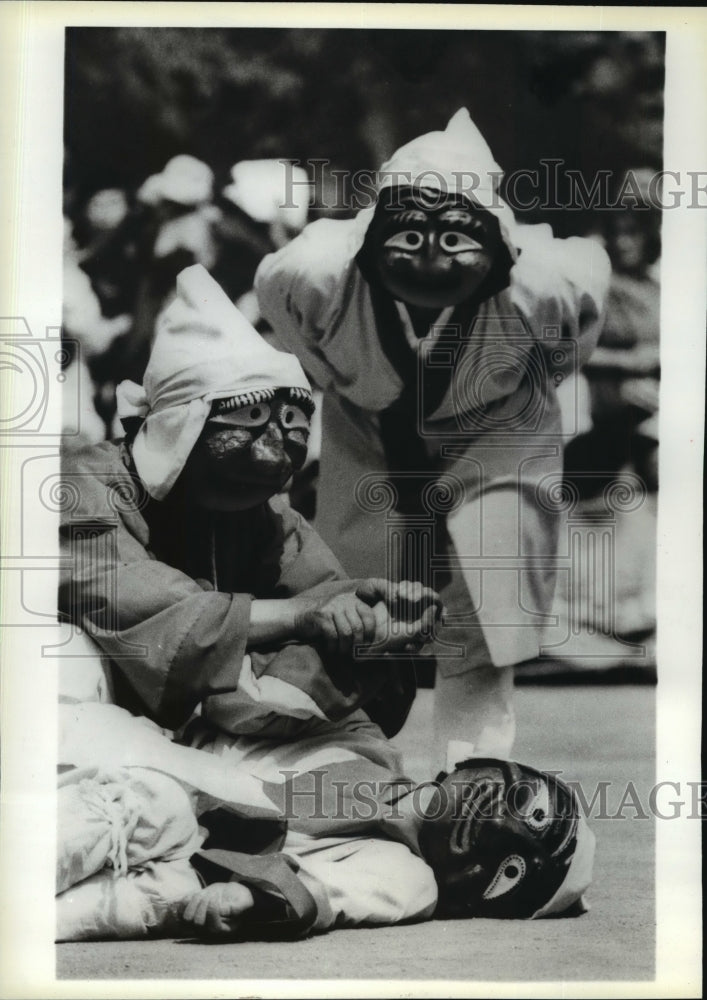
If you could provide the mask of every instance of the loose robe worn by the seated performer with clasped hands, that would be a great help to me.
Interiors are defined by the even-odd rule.
[[[202,718],[238,736],[290,739],[365,705],[388,735],[414,697],[409,658],[363,663],[312,645],[247,649],[253,598],[356,588],[285,497],[240,513],[152,501],[128,449],[67,454],[62,616],[111,661],[116,700],[161,726]]]

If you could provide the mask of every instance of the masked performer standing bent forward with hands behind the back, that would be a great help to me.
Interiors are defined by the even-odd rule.
[[[436,758],[509,755],[514,665],[555,587],[556,387],[599,335],[595,242],[519,226],[465,109],[399,149],[374,207],[312,223],[256,275],[324,391],[315,525],[354,576],[439,590]]]

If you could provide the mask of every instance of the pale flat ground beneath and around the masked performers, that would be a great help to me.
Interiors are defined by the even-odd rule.
[[[519,688],[517,695],[519,760],[562,769],[566,777],[582,782],[590,800],[599,781],[611,782],[609,814],[618,811],[628,781],[646,801],[654,774],[655,688],[528,686]],[[429,777],[425,737],[430,705],[431,692],[421,691],[399,737],[416,778]],[[624,819],[599,819],[596,808],[593,812],[591,825],[598,843],[592,909],[578,919],[435,921],[340,930],[291,944],[63,944],[57,947],[57,977],[230,980],[230,990],[217,990],[214,984],[213,994],[206,994],[214,997],[257,996],[258,984],[253,980],[289,980],[292,988],[293,979],[333,979],[341,984],[337,992],[348,996],[361,996],[360,987],[355,982],[347,987],[342,981],[361,979],[380,981],[380,995],[391,995],[390,980],[445,979],[467,984],[650,980],[655,937],[654,822],[633,818],[630,809],[624,810]],[[387,981],[385,986],[383,981]],[[136,985],[125,995],[177,995],[170,993],[166,983],[162,993],[139,990]],[[91,995],[101,995],[100,987]],[[186,994],[180,991],[179,995]],[[272,990],[268,995],[273,995]],[[394,995],[416,994],[402,985]],[[442,990],[431,995],[448,994]]]

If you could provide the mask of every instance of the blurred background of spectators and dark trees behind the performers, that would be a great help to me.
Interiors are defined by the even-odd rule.
[[[618,517],[616,565],[618,631],[647,655],[607,648],[584,666],[637,662],[650,676],[660,213],[648,190],[662,167],[663,83],[656,33],[67,29],[63,332],[81,399],[67,446],[120,436],[116,385],[141,380],[179,271],[203,264],[267,336],[252,292],[262,257],[313,219],[349,217],[360,205],[342,177],[375,170],[466,106],[507,177],[560,164],[520,221],[598,239],[612,261],[600,345],[568,395],[580,419],[566,478],[589,512],[622,471],[646,485],[641,509]],[[282,160],[296,181],[286,208]],[[572,170],[588,187],[604,172],[610,196],[630,175],[634,197],[568,205]],[[315,428],[293,489],[305,516],[317,448]],[[548,660],[537,675],[578,666]]]

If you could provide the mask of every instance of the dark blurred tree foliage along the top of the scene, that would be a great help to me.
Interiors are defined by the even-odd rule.
[[[657,33],[69,28],[65,60],[79,200],[135,189],[177,153],[217,183],[259,157],[375,169],[462,105],[507,172],[661,166]]]

